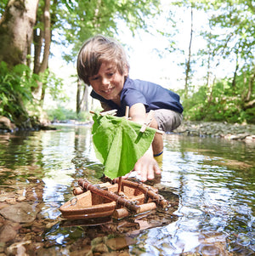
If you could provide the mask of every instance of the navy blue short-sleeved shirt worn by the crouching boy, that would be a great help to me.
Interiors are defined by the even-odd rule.
[[[178,94],[161,87],[153,82],[146,82],[142,80],[132,80],[127,77],[126,82],[122,88],[121,106],[116,105],[112,100],[105,100],[94,90],[90,94],[94,99],[107,103],[112,109],[117,110],[117,116],[125,115],[126,105],[131,107],[136,103],[144,104],[146,112],[157,109],[168,109],[182,113],[183,106],[179,102]]]

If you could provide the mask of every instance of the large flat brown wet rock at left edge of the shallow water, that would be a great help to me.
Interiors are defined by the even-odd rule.
[[[2,214],[4,218],[20,223],[33,221],[36,219],[37,212],[35,206],[27,202],[19,202],[0,210],[0,214]]]

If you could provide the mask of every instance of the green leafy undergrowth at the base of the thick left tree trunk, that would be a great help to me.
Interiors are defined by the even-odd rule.
[[[32,101],[31,87],[37,87],[38,76],[26,65],[15,65],[11,70],[0,63],[0,115],[12,121],[26,122],[26,104]]]

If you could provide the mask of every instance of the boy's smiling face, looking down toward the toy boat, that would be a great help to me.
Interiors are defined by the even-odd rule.
[[[127,77],[127,69],[121,75],[115,64],[103,62],[98,74],[89,77],[88,80],[97,94],[105,100],[113,100],[120,104],[125,77]]]

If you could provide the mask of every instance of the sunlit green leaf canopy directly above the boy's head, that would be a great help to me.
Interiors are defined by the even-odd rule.
[[[117,34],[119,20],[123,20],[134,33],[137,28],[147,26],[145,16],[151,18],[160,12],[160,0],[58,0],[55,3],[52,7],[54,28],[61,28],[56,39],[65,46],[72,46],[70,51],[63,53],[67,61],[77,57],[77,51],[89,37]]]

